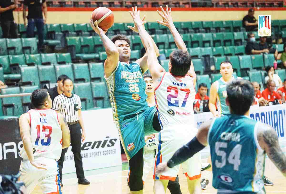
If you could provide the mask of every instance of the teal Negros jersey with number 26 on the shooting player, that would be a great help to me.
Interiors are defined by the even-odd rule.
[[[114,72],[106,78],[110,92],[113,119],[117,124],[130,115],[148,109],[146,83],[138,63],[118,62]]]

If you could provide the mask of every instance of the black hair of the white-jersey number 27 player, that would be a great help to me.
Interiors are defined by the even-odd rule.
[[[174,76],[185,76],[190,70],[192,57],[188,51],[174,50],[170,54],[170,63],[172,65],[170,73]]]

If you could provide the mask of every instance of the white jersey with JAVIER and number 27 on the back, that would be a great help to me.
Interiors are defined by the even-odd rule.
[[[164,73],[160,84],[155,89],[155,101],[160,125],[191,125],[194,123],[194,99],[196,90],[189,75],[182,79],[170,73]]]

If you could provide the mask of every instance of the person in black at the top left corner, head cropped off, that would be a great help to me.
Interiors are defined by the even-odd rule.
[[[18,8],[15,0],[0,1],[0,25],[3,38],[18,38],[17,24],[14,20],[13,9]]]

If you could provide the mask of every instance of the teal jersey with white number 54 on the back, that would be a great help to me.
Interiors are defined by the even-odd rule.
[[[212,186],[218,193],[265,194],[265,152],[257,140],[260,122],[242,115],[215,118],[208,131]]]

